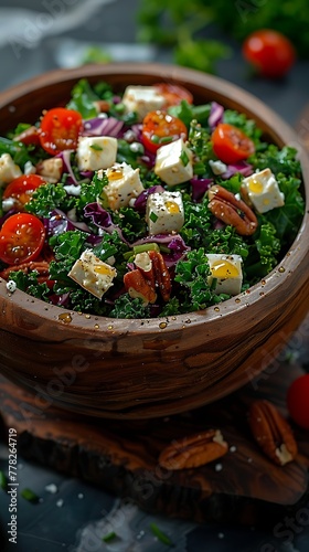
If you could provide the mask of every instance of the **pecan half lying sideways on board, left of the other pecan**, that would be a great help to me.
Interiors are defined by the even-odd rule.
[[[220,429],[209,429],[181,440],[172,442],[159,456],[163,468],[177,470],[198,468],[220,458],[228,450]]]

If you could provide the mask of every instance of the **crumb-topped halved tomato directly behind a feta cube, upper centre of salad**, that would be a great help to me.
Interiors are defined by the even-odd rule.
[[[184,123],[166,112],[150,112],[142,121],[141,138],[143,146],[156,153],[164,144],[187,139],[188,130]]]

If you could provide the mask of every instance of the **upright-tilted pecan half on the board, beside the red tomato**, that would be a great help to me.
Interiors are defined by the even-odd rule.
[[[292,431],[274,404],[252,403],[248,422],[256,443],[275,464],[284,466],[295,459],[298,449]]]

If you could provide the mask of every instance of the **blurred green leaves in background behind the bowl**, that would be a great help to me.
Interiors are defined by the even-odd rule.
[[[227,41],[207,38],[213,28],[239,44],[257,29],[274,29],[309,59],[308,0],[140,0],[137,28],[138,41],[172,49],[175,63],[209,73],[232,54]]]

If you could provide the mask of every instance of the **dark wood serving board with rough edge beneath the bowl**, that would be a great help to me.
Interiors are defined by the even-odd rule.
[[[130,422],[86,418],[53,406],[39,410],[32,395],[1,378],[0,413],[3,425],[18,431],[21,456],[134,499],[149,512],[266,526],[308,500],[309,432],[294,427],[299,455],[277,467],[252,438],[247,405],[265,397],[287,415],[286,390],[301,373],[295,364],[280,364],[212,405]],[[167,444],[209,427],[220,428],[232,447],[223,458],[195,469],[160,468]]]

